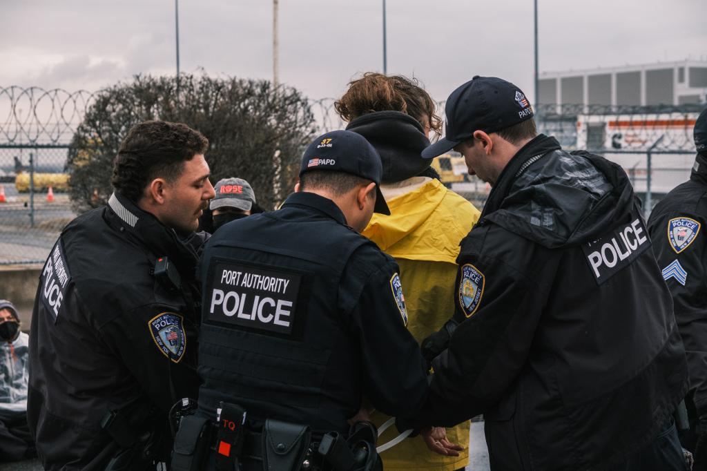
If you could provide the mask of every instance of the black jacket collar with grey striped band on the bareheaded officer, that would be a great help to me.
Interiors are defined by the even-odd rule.
[[[143,211],[122,194],[110,195],[105,214],[113,228],[146,246],[156,257],[168,255],[177,267],[185,272],[193,271],[204,242],[201,234],[192,232],[185,237],[178,236],[173,228],[160,223],[153,214]]]

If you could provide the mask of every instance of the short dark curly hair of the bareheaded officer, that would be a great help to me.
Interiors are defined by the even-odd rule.
[[[137,203],[155,178],[180,178],[184,163],[205,153],[209,140],[180,122],[146,121],[129,129],[113,162],[115,191]]]

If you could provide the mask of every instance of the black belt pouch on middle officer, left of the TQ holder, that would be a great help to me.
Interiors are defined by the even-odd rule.
[[[209,420],[187,415],[182,417],[175,436],[173,471],[199,471],[209,449]]]

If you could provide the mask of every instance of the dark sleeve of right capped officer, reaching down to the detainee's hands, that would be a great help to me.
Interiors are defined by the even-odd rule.
[[[464,321],[452,334],[449,348],[433,361],[428,400],[414,419],[404,421],[405,428],[459,424],[483,413],[510,389],[527,361],[547,300],[549,286],[540,280],[551,282],[558,260],[548,250],[541,256],[535,249],[519,243],[504,252],[503,259],[460,257],[455,318]],[[540,272],[521,272],[504,260],[523,260]],[[466,264],[484,276],[484,286],[478,303],[465,311],[458,289]]]

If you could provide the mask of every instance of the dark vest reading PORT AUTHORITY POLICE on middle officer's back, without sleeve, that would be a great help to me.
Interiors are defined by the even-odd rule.
[[[358,409],[361,368],[341,307],[342,279],[356,286],[351,255],[365,244],[372,243],[342,221],[292,204],[219,229],[200,268],[200,414],[215,419],[226,401],[256,423],[274,418],[346,431]]]

